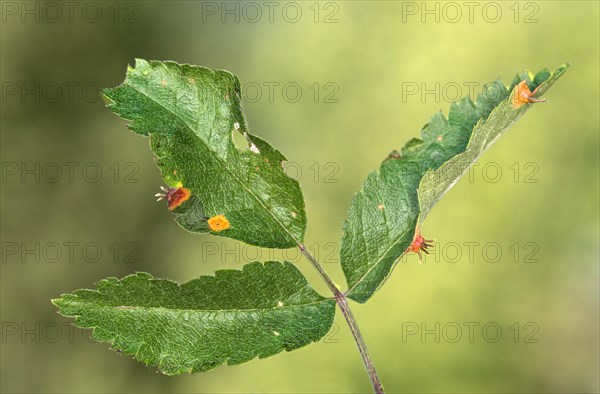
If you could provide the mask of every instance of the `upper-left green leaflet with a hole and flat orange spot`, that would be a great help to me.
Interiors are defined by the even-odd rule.
[[[138,59],[125,82],[104,94],[131,130],[150,137],[167,185],[181,182],[191,191],[173,211],[183,228],[269,248],[303,241],[300,185],[283,171],[285,156],[248,133],[233,74]],[[248,133],[252,149],[236,147],[237,132]],[[211,231],[206,220],[216,215],[225,215],[231,228]]]

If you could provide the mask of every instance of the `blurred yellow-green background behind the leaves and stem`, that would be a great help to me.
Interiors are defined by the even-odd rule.
[[[154,202],[147,140],[97,94],[136,57],[239,76],[251,130],[300,178],[306,244],[341,286],[342,221],[385,155],[469,86],[571,62],[429,215],[434,254],[403,259],[353,310],[389,392],[598,392],[598,2],[70,4],[2,2],[2,392],[370,390],[339,313],[320,343],[178,377],[56,313],[51,298],[107,276],[186,281],[256,259],[293,261],[326,294],[295,250],[192,235]]]

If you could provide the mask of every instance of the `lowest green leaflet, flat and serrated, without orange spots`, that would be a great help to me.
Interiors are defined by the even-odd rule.
[[[305,346],[330,329],[335,301],[291,263],[255,262],[182,285],[136,273],[52,301],[93,337],[175,375]]]

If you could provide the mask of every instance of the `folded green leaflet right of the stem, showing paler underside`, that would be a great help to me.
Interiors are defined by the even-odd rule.
[[[539,86],[539,97],[567,68],[535,77],[520,73],[509,89],[499,80],[488,84],[475,103],[463,98],[451,105],[448,118],[435,114],[422,139],[410,140],[401,154],[392,152],[379,171],[368,175],[351,202],[340,247],[349,298],[366,302],[373,295],[433,205],[531,107],[513,106],[515,85],[525,80],[532,91]]]

